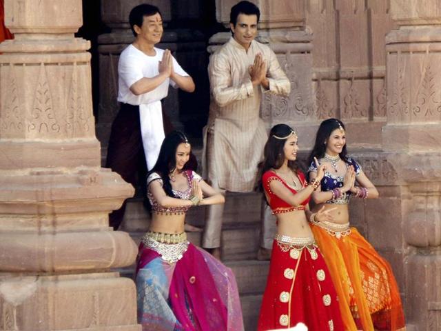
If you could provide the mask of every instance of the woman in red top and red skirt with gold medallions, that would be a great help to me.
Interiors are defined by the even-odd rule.
[[[325,167],[318,167],[318,179],[308,185],[296,166],[297,150],[294,130],[285,124],[271,129],[265,145],[261,188],[276,214],[278,233],[258,330],[291,328],[297,323],[304,323],[309,331],[344,330],[336,290],[308,225],[311,217],[331,220],[329,212],[312,214],[308,208]]]

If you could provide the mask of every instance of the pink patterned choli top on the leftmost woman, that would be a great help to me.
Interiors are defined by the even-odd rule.
[[[196,179],[197,181],[201,181],[202,177],[196,174],[196,172],[192,170],[184,170],[183,174],[185,177],[187,177],[187,183],[188,188],[185,191],[179,191],[172,189],[173,194],[175,195],[174,198],[176,199],[183,199],[183,200],[189,200],[190,197],[192,197],[192,188],[193,188],[193,179]],[[158,201],[154,198],[154,195],[152,192],[150,192],[150,183],[153,181],[158,181],[161,186],[163,185],[163,179],[161,178],[161,175],[157,172],[152,172],[149,177],[147,177],[147,198],[150,201],[150,205],[152,205],[152,212],[155,212],[157,214],[185,214],[187,210],[191,207],[191,205],[185,205],[182,207],[161,207],[159,205]]]

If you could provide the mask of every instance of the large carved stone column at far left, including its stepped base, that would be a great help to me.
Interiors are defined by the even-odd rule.
[[[100,166],[80,0],[6,0],[0,44],[0,330],[141,330],[136,245],[107,214],[133,188]]]

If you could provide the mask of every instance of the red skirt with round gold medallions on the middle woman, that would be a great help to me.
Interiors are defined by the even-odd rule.
[[[322,254],[315,245],[285,252],[274,240],[258,330],[292,328],[344,330],[338,297]]]

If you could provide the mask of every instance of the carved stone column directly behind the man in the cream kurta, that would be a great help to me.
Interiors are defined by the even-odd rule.
[[[229,12],[236,0],[216,0],[216,18],[229,27]],[[280,66],[291,81],[289,97],[265,94],[261,104],[261,116],[271,128],[277,123],[293,125],[298,131],[307,130],[305,121],[314,119],[311,98],[312,44],[311,33],[305,30],[305,1],[256,0],[260,9],[257,41],[274,50]],[[215,34],[210,40],[210,53],[228,41],[230,32]]]

